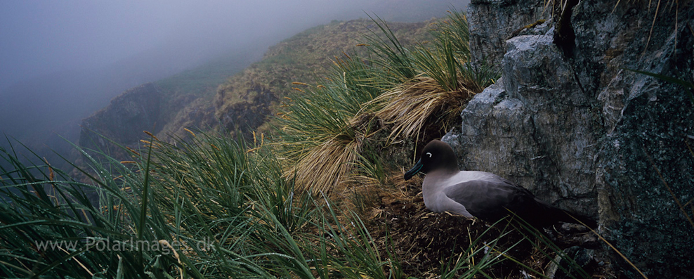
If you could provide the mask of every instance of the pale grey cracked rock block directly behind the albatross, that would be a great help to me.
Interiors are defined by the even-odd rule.
[[[462,166],[516,181],[544,200],[597,217],[601,122],[549,34],[507,41],[503,77],[461,113]]]

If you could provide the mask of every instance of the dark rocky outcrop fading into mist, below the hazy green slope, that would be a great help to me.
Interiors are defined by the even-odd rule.
[[[202,96],[201,96],[202,95]],[[211,96],[178,93],[148,83],[125,91],[105,108],[82,120],[79,145],[120,160],[129,158],[118,145],[138,148],[149,131],[161,141],[187,140],[185,129],[214,129]]]

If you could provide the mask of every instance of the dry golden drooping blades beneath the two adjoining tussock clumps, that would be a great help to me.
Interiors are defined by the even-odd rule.
[[[364,183],[355,166],[362,164],[365,141],[384,126],[390,130],[388,141],[399,138],[420,138],[427,124],[446,128],[454,121],[475,92],[461,86],[457,91],[445,91],[431,77],[417,77],[417,82],[396,86],[365,104],[380,108],[374,113],[362,112],[349,121],[353,135],[343,133],[310,150],[304,150],[298,160],[289,162],[286,179],[312,193],[341,193],[357,180]],[[381,122],[375,124],[376,122]],[[292,156],[293,157],[293,156]],[[379,184],[370,181],[368,184]]]

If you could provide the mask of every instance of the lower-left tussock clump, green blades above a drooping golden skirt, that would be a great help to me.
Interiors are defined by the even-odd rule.
[[[286,178],[313,193],[327,193],[351,171],[365,140],[377,130],[372,118],[358,117],[362,104],[379,92],[370,72],[346,56],[336,60],[325,85],[289,97],[278,143],[287,157]]]

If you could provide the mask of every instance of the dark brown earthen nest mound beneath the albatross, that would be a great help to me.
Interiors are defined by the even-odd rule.
[[[512,248],[502,255],[506,258],[504,261],[485,269],[492,278],[541,278],[531,269],[546,274],[551,258],[556,257],[551,247],[542,245],[537,236],[526,236],[527,231],[514,229],[513,223],[490,226],[464,216],[429,211],[421,197],[421,177],[411,181],[393,180],[398,189],[378,191],[379,202],[374,204],[371,213],[365,212],[370,216],[363,219],[368,220],[367,228],[381,255],[391,255],[391,260],[399,264],[405,278],[438,278],[442,268],[449,270],[457,260],[469,261],[468,264],[479,262],[484,252],[466,260],[466,250],[471,245],[472,250],[485,249],[485,245],[497,239],[494,249],[487,246],[486,252],[499,254]],[[598,240],[586,231],[585,228],[568,226],[554,231],[544,230],[543,233],[559,249],[575,245],[589,249],[598,246]],[[473,244],[478,238],[480,240]],[[595,269],[588,272],[591,275],[605,274],[605,271]]]

